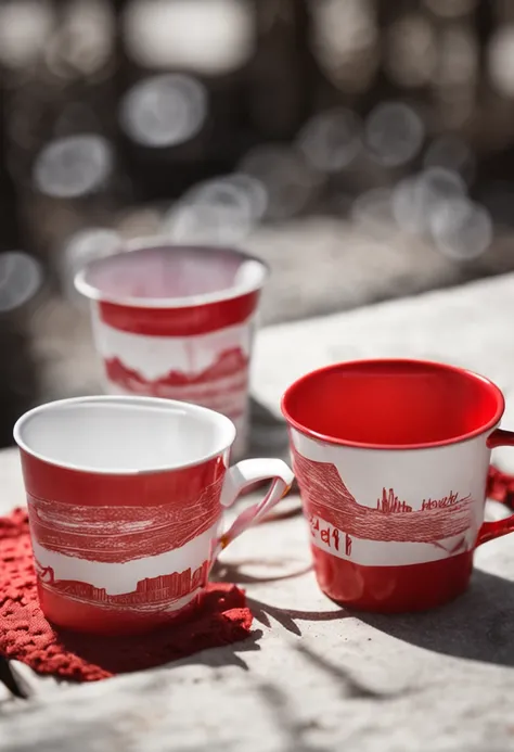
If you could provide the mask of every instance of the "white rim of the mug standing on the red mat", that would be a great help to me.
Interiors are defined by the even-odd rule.
[[[191,416],[200,417],[202,420],[205,422],[210,422],[211,424],[217,424],[221,429],[221,436],[219,438],[219,442],[215,445],[213,450],[208,453],[201,454],[198,457],[195,457],[191,461],[185,461],[185,462],[169,462],[166,464],[156,464],[155,467],[152,468],[144,468],[144,469],[139,469],[139,468],[133,468],[133,469],[121,469],[121,468],[95,468],[95,467],[90,467],[87,463],[72,463],[72,462],[66,462],[66,461],[61,461],[54,457],[51,457],[50,454],[46,455],[44,453],[41,451],[36,451],[33,449],[25,441],[25,433],[26,433],[26,428],[27,424],[34,420],[35,418],[40,418],[41,416],[43,418],[47,418],[48,420],[52,420],[52,416],[55,416],[55,412],[59,410],[62,410],[63,408],[67,407],[79,407],[79,406],[88,406],[88,405],[100,405],[100,406],[105,406],[105,407],[112,407],[112,406],[120,406],[123,407],[124,405],[128,406],[139,406],[142,408],[150,408],[153,410],[162,410],[164,412],[168,412],[172,415],[174,410],[181,410],[182,412],[187,412]],[[43,405],[39,405],[38,407],[33,408],[31,410],[28,410],[25,412],[15,423],[14,429],[13,429],[13,435],[14,435],[14,441],[16,442],[17,446],[20,449],[22,449],[24,453],[29,455],[30,457],[44,462],[46,464],[50,464],[55,468],[62,468],[65,470],[72,470],[74,472],[81,472],[85,474],[94,474],[94,475],[153,475],[157,473],[163,473],[163,472],[169,472],[174,470],[185,470],[188,468],[195,468],[197,466],[201,466],[220,455],[222,455],[226,450],[230,449],[232,446],[234,439],[235,439],[235,425],[232,423],[232,421],[227,418],[226,416],[221,415],[220,412],[216,412],[215,410],[210,410],[206,407],[202,407],[200,405],[193,405],[192,403],[183,403],[178,399],[160,399],[158,397],[141,397],[141,396],[130,396],[130,395],[123,395],[123,396],[117,396],[117,395],[100,395],[100,396],[88,396],[88,397],[69,397],[66,399],[57,399],[55,402],[50,402],[46,403]]]

